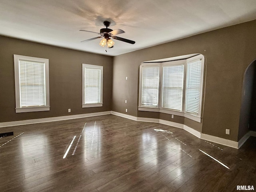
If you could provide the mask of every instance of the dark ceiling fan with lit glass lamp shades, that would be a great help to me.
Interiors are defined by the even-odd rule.
[[[112,48],[115,44],[115,42],[110,38],[113,38],[113,39],[116,39],[116,40],[119,40],[119,41],[123,41],[123,42],[126,42],[126,43],[130,43],[130,44],[135,43],[135,41],[116,36],[118,34],[124,33],[124,31],[121,30],[121,29],[116,29],[116,30],[109,29],[108,27],[110,26],[110,22],[104,21],[103,24],[104,24],[104,26],[106,26],[106,28],[100,29],[100,33],[93,32],[93,31],[87,31],[87,30],[80,30],[80,31],[85,31],[85,32],[97,33],[97,34],[100,35],[99,37],[90,38],[90,39],[87,39],[87,40],[83,40],[81,42],[87,42],[87,41],[91,41],[91,40],[94,40],[94,39],[104,37],[100,41],[100,46],[102,46],[102,47],[106,46],[106,49],[107,48]],[[107,50],[106,50],[106,52],[107,52]]]

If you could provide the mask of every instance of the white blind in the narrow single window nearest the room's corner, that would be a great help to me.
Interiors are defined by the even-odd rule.
[[[96,68],[84,68],[84,103],[95,104],[101,100],[101,70]]]

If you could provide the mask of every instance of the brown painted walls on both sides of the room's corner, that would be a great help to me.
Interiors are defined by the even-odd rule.
[[[126,113],[126,108],[127,114],[132,116],[158,116],[138,112],[140,64],[200,53],[206,59],[203,120],[197,123],[184,118],[184,124],[205,134],[237,141],[243,74],[256,58],[255,31],[256,20],[122,54],[114,59],[0,36],[0,122],[108,110]],[[15,113],[13,54],[49,59],[50,111]],[[82,63],[104,66],[103,107],[81,107]],[[68,108],[71,113],[67,112]],[[159,118],[169,119],[169,116],[159,114]],[[183,122],[181,119],[173,121]],[[225,134],[226,128],[230,129],[230,135]]]

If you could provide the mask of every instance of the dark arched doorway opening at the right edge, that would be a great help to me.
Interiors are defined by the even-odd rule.
[[[244,72],[238,141],[249,131],[256,131],[256,60]]]

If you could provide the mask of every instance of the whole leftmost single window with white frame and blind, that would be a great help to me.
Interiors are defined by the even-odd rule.
[[[16,113],[49,111],[49,60],[14,55]]]

